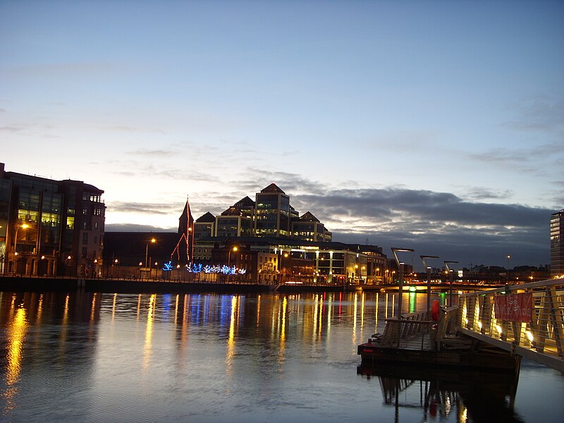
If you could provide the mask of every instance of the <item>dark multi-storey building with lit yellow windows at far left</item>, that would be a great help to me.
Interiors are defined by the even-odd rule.
[[[5,171],[0,163],[0,274],[93,276],[102,269],[103,190]]]

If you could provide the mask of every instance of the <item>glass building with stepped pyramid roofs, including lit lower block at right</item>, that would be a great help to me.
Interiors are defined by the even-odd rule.
[[[241,260],[250,281],[382,283],[388,260],[381,247],[334,243],[311,212],[300,214],[275,183],[239,200],[219,216],[207,212],[194,223],[194,262]],[[229,253],[231,252],[231,253]]]

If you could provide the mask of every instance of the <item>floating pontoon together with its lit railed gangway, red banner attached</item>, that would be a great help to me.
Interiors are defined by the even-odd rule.
[[[358,345],[363,363],[514,369],[521,357],[564,374],[564,280],[459,293],[458,305],[386,319]],[[507,352],[502,354],[503,351]]]

